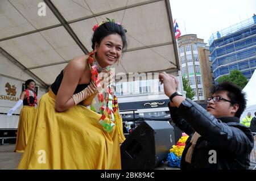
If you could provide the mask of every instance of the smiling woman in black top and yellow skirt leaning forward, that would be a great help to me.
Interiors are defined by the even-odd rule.
[[[106,131],[99,122],[103,115],[86,106],[102,95],[91,79],[92,66],[96,74],[109,73],[108,66],[119,61],[126,48],[125,30],[109,21],[93,30],[93,52],[73,58],[40,99],[18,169],[121,169],[122,121]],[[108,123],[108,117],[104,121]]]

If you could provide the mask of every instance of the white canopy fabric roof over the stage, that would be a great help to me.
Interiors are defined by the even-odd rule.
[[[0,53],[47,87],[72,58],[92,50],[92,27],[121,22],[128,47],[115,74],[166,71],[179,61],[168,0],[0,1]],[[1,59],[0,59],[1,61]],[[11,71],[11,70],[10,70]]]

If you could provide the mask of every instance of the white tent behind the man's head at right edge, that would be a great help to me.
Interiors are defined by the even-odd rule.
[[[247,105],[245,111],[243,111],[240,117],[240,122],[248,112],[251,113],[251,116],[254,116],[254,112],[256,111],[256,71],[254,71],[253,76],[251,76],[250,81],[247,83],[245,88],[243,88],[243,91],[246,92]]]

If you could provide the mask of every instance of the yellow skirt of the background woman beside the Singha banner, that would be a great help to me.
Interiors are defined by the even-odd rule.
[[[19,124],[16,137],[16,152],[24,152],[28,137],[32,131],[32,123],[34,121],[35,107],[32,106],[23,106],[19,115]]]

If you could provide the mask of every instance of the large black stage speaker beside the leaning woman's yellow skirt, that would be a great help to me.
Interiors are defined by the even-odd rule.
[[[168,121],[143,121],[121,145],[122,169],[154,169],[172,145],[174,128]]]

